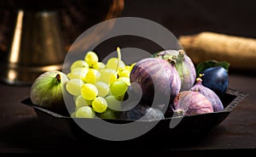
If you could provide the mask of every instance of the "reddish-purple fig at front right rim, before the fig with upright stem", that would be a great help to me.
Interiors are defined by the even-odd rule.
[[[203,94],[194,91],[178,93],[172,109],[177,115],[198,115],[212,113],[212,103]]]

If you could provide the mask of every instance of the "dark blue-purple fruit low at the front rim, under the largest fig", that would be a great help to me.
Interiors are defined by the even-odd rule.
[[[138,104],[136,107],[123,111],[120,115],[122,120],[133,120],[133,121],[160,121],[165,116],[160,109],[151,108],[146,105]]]

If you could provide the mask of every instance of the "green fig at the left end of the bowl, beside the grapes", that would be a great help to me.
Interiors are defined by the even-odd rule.
[[[42,106],[61,115],[67,115],[63,100],[63,92],[67,81],[67,75],[61,71],[44,72],[33,81],[30,88],[32,104]]]

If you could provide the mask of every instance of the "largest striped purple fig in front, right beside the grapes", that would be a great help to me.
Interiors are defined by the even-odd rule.
[[[139,60],[132,68],[130,81],[142,87],[142,101],[166,103],[173,101],[180,91],[181,80],[174,67],[165,59],[146,58]],[[154,99],[155,97],[155,99]]]

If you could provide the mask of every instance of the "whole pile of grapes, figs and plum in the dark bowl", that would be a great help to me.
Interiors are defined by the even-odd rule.
[[[228,63],[209,60],[195,69],[183,50],[166,50],[128,65],[119,48],[117,53],[117,58],[102,63],[90,51],[71,64],[67,75],[47,71],[38,76],[31,87],[32,103],[63,114],[65,90],[73,97],[72,117],[147,121],[224,109],[220,98],[228,87]],[[133,96],[141,96],[140,101],[125,110]]]

